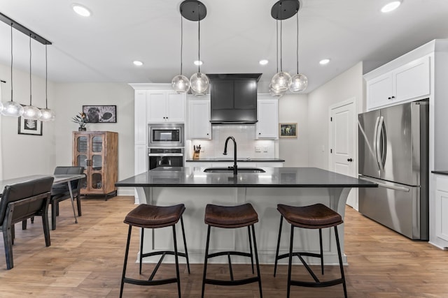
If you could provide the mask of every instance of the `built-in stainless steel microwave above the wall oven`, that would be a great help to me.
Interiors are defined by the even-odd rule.
[[[148,147],[184,147],[183,124],[148,124]]]

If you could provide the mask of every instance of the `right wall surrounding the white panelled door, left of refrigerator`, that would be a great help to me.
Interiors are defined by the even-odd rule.
[[[329,107],[356,98],[358,112],[362,111],[365,106],[363,84],[363,63],[359,62],[308,94],[309,166],[328,169]]]

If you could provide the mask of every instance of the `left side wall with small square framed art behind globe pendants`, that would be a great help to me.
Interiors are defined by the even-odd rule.
[[[10,100],[10,66],[0,64],[2,100]],[[32,103],[45,107],[45,77],[31,76]],[[29,73],[13,70],[13,100],[29,105]],[[48,82],[48,107],[54,108],[54,84]],[[19,135],[18,118],[0,116],[3,179],[30,174],[51,174],[55,168],[55,124],[44,123],[42,135]]]

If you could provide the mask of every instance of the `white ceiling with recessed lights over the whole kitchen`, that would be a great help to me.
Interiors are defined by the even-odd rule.
[[[435,38],[448,38],[448,0],[403,0],[392,13],[388,0],[301,0],[299,71],[305,93],[358,61],[365,72]],[[0,0],[0,12],[52,42],[48,78],[55,82],[171,82],[180,73],[181,0]],[[276,73],[276,0],[202,0],[202,73]],[[183,74],[197,71],[197,22],[183,20]],[[296,70],[295,17],[283,21],[283,70]],[[29,37],[13,30],[13,64],[29,71]],[[32,40],[32,73],[45,76],[45,47]],[[330,64],[318,64],[330,58]],[[134,60],[144,62],[136,67]],[[260,66],[260,59],[268,59]],[[0,22],[0,63],[10,65],[10,27]],[[0,77],[10,80],[10,77]],[[267,91],[267,90],[266,90]]]

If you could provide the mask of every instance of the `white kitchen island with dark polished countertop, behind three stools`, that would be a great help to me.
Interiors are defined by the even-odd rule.
[[[347,195],[351,188],[377,187],[368,181],[348,177],[315,167],[262,167],[265,172],[204,172],[203,167],[158,167],[118,181],[116,186],[135,187],[140,203],[167,206],[183,203],[183,214],[190,262],[203,262],[207,225],[204,209],[209,203],[237,205],[250,202],[258,213],[255,224],[260,262],[273,264],[280,214],[276,204],[304,206],[323,203],[344,218]],[[180,228],[176,227],[176,228]],[[344,251],[344,224],[338,226],[341,249]],[[144,252],[172,248],[172,233],[167,228],[145,232]],[[325,264],[337,264],[337,249],[330,229],[323,231]],[[180,230],[179,230],[180,233]],[[281,253],[288,250],[290,229],[283,225]],[[295,248],[318,252],[318,230],[297,230]],[[178,241],[180,250],[182,241]],[[216,229],[211,234],[210,251],[246,250],[246,229]],[[346,256],[343,256],[346,263]],[[316,264],[318,259],[309,262]],[[149,258],[144,260],[150,261]],[[152,261],[152,260],[151,260]],[[216,258],[215,262],[227,262]],[[232,262],[246,262],[245,258],[232,258]],[[286,262],[286,260],[285,260]]]

